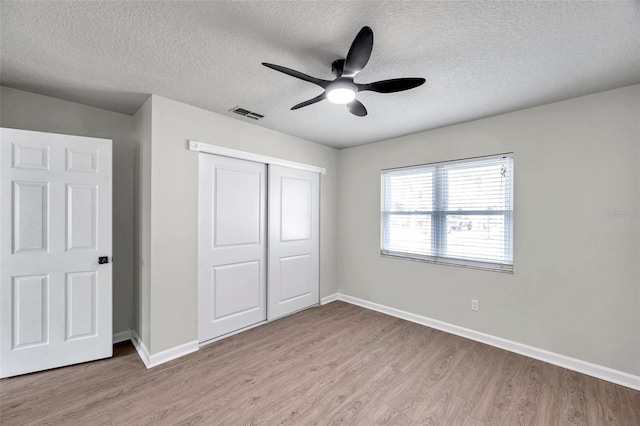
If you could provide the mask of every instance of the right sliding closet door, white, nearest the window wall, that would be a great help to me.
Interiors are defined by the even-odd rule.
[[[320,302],[318,173],[269,166],[269,319]]]

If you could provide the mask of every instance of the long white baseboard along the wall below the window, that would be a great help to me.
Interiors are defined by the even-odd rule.
[[[329,296],[328,298],[330,297],[333,297],[333,295]],[[374,302],[369,302],[368,300],[359,299],[357,297],[349,296],[346,294],[338,293],[335,296],[335,299],[332,300],[336,299],[342,300],[343,302],[351,303],[353,305],[361,306],[363,308],[371,309],[373,311],[382,312],[384,314],[391,315],[397,318],[402,318],[407,321],[426,325],[427,327],[435,328],[437,330],[445,331],[447,333],[455,334],[457,336],[475,340],[477,342],[486,343],[487,345],[495,346],[500,349],[515,352],[517,354],[528,356],[540,361],[548,362],[549,364],[554,364],[560,367],[567,368],[569,370],[587,374],[589,376],[626,386],[631,389],[640,390],[640,376],[635,376],[623,371],[618,371],[612,368],[592,364],[590,362],[571,358],[554,352],[549,352],[547,350],[524,345],[522,343],[513,342],[511,340],[502,339],[500,337],[481,333],[479,331],[449,324],[443,321],[438,321],[422,315],[412,314],[410,312],[391,308],[385,305],[380,305]]]

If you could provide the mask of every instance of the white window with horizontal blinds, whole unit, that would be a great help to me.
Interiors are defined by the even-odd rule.
[[[382,254],[513,271],[513,157],[382,171]]]

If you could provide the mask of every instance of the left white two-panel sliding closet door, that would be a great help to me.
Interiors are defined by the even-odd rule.
[[[266,166],[200,154],[198,339],[267,319]]]

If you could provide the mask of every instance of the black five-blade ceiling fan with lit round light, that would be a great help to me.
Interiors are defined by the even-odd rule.
[[[302,108],[320,102],[323,99],[336,104],[347,104],[349,111],[359,117],[367,115],[367,109],[362,102],[356,99],[356,93],[369,90],[378,93],[402,92],[424,84],[424,78],[394,78],[391,80],[376,81],[374,83],[356,83],[353,78],[358,74],[371,56],[373,49],[373,31],[369,27],[362,27],[356,38],[351,43],[346,59],[336,59],[331,64],[331,72],[336,76],[335,80],[323,80],[303,74],[280,65],[263,62],[265,67],[280,71],[300,80],[316,84],[324,89],[320,95],[313,99],[300,102],[291,107],[292,110]]]

